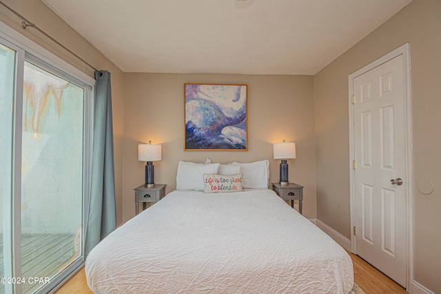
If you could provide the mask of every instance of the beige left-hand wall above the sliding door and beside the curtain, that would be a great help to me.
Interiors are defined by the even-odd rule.
[[[124,99],[123,99],[123,72],[112,62],[105,58],[88,41],[75,32],[67,23],[54,14],[42,1],[36,0],[3,0],[6,5],[16,10],[35,23],[41,30],[44,30],[54,39],[57,39],[64,46],[75,52],[81,58],[88,61],[99,70],[109,70],[112,74],[112,105],[114,121],[114,153],[115,153],[115,179],[116,179],[116,224],[121,224],[121,195],[123,185],[123,127],[124,127]],[[54,55],[72,64],[72,66],[85,72],[90,77],[94,77],[94,70],[85,63],[79,61],[69,52],[59,47],[47,37],[33,28],[23,30],[21,19],[9,10],[0,6],[0,21],[25,35],[43,48],[49,50]]]

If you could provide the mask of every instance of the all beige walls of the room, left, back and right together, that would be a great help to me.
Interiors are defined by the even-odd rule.
[[[271,144],[286,139],[297,143],[297,159],[289,161],[289,179],[305,186],[304,215],[317,217],[349,238],[347,77],[410,42],[414,277],[431,291],[441,293],[441,231],[437,227],[441,222],[441,1],[413,0],[318,72],[314,83],[313,77],[307,76],[123,74],[41,1],[4,2],[96,68],[112,73],[117,224],[134,215],[132,189],[144,181],[145,163],[138,161],[136,155],[138,143],[152,140],[163,144],[163,160],[155,162],[155,179],[167,184],[170,192],[176,186],[180,159],[203,162],[209,157],[223,163],[269,159],[270,182],[277,182],[279,161],[272,159]],[[21,20],[3,6],[0,21],[93,76],[92,69],[36,30],[22,30]],[[247,152],[183,150],[185,82],[248,84]],[[435,184],[432,195],[418,190],[418,183],[424,178]]]

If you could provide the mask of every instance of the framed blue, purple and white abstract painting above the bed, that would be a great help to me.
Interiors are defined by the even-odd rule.
[[[184,84],[185,150],[248,150],[247,85]]]

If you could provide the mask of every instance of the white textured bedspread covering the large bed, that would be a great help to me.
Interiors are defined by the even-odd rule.
[[[342,293],[351,258],[272,190],[175,190],[88,255],[95,293]]]

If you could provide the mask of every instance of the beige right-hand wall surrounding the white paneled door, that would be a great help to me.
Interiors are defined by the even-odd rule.
[[[314,76],[317,216],[350,237],[348,75],[409,42],[414,280],[441,293],[441,1],[413,0]],[[431,195],[418,190],[423,179]]]

